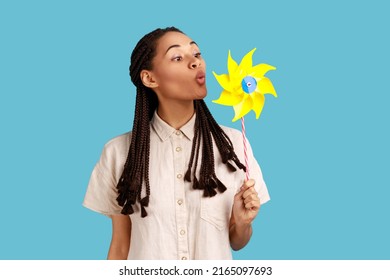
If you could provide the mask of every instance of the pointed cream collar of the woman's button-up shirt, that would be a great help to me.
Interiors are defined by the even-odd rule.
[[[195,125],[196,114],[194,114],[191,119],[183,125],[179,130],[171,127],[165,121],[163,121],[160,116],[157,114],[157,110],[154,111],[151,125],[153,129],[156,131],[158,137],[160,137],[161,141],[166,141],[168,138],[175,133],[176,131],[180,131],[184,134],[184,136],[188,140],[192,140],[194,138],[194,125]]]

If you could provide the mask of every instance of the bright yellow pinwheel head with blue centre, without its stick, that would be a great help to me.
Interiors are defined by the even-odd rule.
[[[223,88],[219,99],[214,103],[233,106],[233,122],[245,116],[251,110],[256,113],[256,119],[260,117],[264,107],[264,94],[272,94],[277,97],[274,86],[269,78],[264,75],[269,70],[275,70],[274,66],[268,64],[257,64],[252,66],[252,55],[256,48],[247,53],[241,60],[240,65],[228,54],[229,74],[217,75],[213,72],[218,83]]]

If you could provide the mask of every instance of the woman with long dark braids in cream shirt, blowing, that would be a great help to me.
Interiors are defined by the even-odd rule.
[[[207,109],[205,71],[174,27],[133,50],[133,130],[105,145],[83,203],[112,219],[108,259],[231,259],[248,243],[269,195],[250,147],[254,180],[235,172],[245,170],[242,136]]]

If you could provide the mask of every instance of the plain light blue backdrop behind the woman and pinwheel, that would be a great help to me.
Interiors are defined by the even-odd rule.
[[[1,1],[0,259],[104,259],[108,218],[81,206],[110,138],[131,129],[129,57],[177,26],[207,61],[254,47],[278,98],[246,118],[272,200],[236,259],[390,259],[386,1]]]

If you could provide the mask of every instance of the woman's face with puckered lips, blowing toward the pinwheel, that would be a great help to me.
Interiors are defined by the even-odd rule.
[[[148,71],[159,101],[203,99],[206,63],[198,45],[180,32],[168,32],[157,43],[153,70]]]

